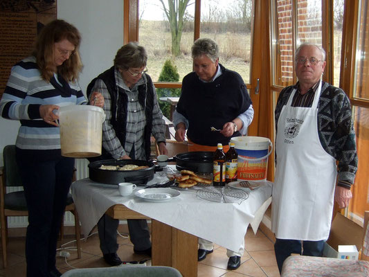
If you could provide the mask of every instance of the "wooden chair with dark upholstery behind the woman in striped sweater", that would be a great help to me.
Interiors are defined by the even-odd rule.
[[[0,167],[0,224],[1,224],[1,247],[3,252],[3,268],[8,266],[7,243],[8,243],[8,216],[27,216],[26,197],[24,191],[7,193],[7,187],[22,186],[17,162],[15,161],[15,145],[6,145],[3,149],[4,166]],[[75,179],[75,177],[73,177]],[[80,249],[80,220],[75,210],[73,198],[68,195],[65,211],[73,213],[75,218],[75,239],[78,258],[81,258]],[[62,222],[62,230],[64,220]]]

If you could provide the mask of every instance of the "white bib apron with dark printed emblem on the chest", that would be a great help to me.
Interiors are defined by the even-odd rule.
[[[296,89],[278,118],[272,231],[280,239],[326,240],[337,172],[336,160],[318,136],[321,84],[312,107],[291,107],[295,93]]]

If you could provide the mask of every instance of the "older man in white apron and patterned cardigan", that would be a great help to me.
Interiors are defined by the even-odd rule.
[[[322,256],[334,199],[348,206],[357,171],[350,100],[321,81],[325,51],[303,44],[295,58],[298,83],[281,91],[276,106],[272,231],[280,271],[291,253]]]

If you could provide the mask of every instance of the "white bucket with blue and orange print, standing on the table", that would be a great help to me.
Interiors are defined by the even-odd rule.
[[[261,136],[236,136],[231,139],[231,143],[235,143],[238,154],[237,179],[265,181],[268,157],[273,151],[270,139]]]

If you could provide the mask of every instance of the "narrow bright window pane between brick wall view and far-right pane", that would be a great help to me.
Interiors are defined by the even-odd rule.
[[[333,2],[333,85],[339,87],[341,70],[341,42],[343,23],[343,0]]]

